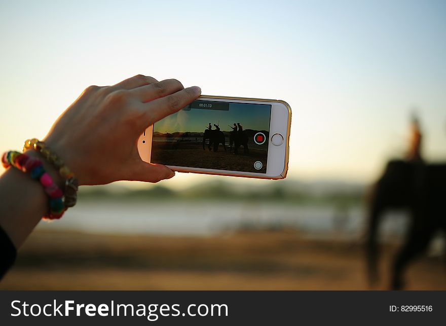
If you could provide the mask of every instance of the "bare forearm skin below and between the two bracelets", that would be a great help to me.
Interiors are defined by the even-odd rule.
[[[62,186],[63,180],[57,171],[38,153],[28,151],[26,154],[39,157],[54,182]],[[42,185],[28,173],[10,167],[0,175],[0,198],[0,226],[19,248],[42,216],[48,213],[48,196]]]

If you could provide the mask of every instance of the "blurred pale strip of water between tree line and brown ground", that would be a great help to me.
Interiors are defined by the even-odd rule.
[[[402,235],[407,219],[402,212],[384,218],[382,233]],[[147,201],[80,202],[63,219],[41,222],[40,230],[90,233],[211,236],[234,231],[291,229],[309,237],[361,238],[365,230],[361,206],[295,205],[274,202]]]

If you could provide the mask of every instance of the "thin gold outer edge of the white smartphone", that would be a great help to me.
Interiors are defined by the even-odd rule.
[[[288,110],[288,125],[286,129],[287,137],[286,137],[286,149],[285,149],[285,166],[277,177],[271,176],[261,176],[261,175],[242,175],[242,174],[234,174],[227,172],[210,172],[210,171],[196,171],[196,170],[188,170],[188,169],[179,169],[176,167],[171,167],[173,171],[182,172],[182,173],[198,173],[198,174],[211,174],[211,175],[225,175],[225,176],[237,176],[237,177],[247,177],[247,178],[255,178],[255,179],[270,179],[270,180],[281,180],[286,177],[288,173],[288,159],[289,159],[289,135],[291,132],[291,106],[283,100],[280,99],[267,99],[267,98],[252,98],[252,97],[232,97],[232,96],[213,96],[213,95],[200,95],[197,99],[200,98],[222,98],[222,99],[235,99],[235,100],[251,100],[251,101],[262,101],[262,102],[279,102],[285,105]]]

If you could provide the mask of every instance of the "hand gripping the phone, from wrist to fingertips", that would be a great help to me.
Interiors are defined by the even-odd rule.
[[[137,140],[145,128],[200,96],[168,79],[137,75],[114,86],[90,86],[57,119],[45,137],[76,174],[80,185],[117,180],[156,183],[175,175],[161,164],[143,162]]]

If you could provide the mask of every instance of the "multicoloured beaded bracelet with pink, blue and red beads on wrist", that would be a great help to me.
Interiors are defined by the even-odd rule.
[[[5,168],[14,166],[25,173],[29,173],[34,180],[40,181],[45,189],[45,193],[48,195],[50,207],[48,216],[44,216],[44,219],[54,220],[62,217],[66,210],[63,204],[63,193],[53,182],[52,177],[45,171],[40,159],[20,152],[9,151],[3,154],[2,164]]]

